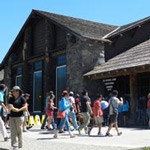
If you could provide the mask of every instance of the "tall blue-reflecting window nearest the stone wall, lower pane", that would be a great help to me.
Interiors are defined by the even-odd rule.
[[[60,99],[64,89],[66,89],[66,65],[56,68],[56,100]]]

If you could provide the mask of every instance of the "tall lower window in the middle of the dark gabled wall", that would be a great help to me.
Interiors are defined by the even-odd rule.
[[[42,71],[36,71],[33,75],[33,111],[41,111],[42,104]]]

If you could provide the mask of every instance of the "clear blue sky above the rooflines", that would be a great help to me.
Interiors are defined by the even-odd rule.
[[[1,0],[0,62],[32,9],[121,26],[150,16],[150,0]]]

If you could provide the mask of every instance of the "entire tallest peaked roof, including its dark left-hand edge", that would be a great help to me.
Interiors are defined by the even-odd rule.
[[[52,21],[53,23],[64,27],[66,30],[72,31],[75,35],[79,37],[84,37],[84,38],[88,38],[92,40],[108,41],[107,39],[102,39],[102,37],[117,27],[117,26],[87,21],[83,19],[77,19],[73,17],[58,15],[58,14],[49,13],[45,11],[32,10],[31,14],[29,15],[23,27],[21,28],[19,34],[17,35],[16,39],[11,45],[8,53],[3,59],[2,65],[5,62],[5,60],[8,58],[8,56],[11,54],[13,47],[15,46],[17,41],[20,39],[28,22],[30,22],[32,17],[35,17],[35,15],[39,15],[40,17],[46,18]]]

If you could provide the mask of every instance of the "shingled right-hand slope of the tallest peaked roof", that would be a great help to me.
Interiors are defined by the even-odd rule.
[[[53,14],[49,12],[33,10],[34,12],[47,17],[48,19],[59,23],[60,25],[70,29],[74,33],[82,37],[86,37],[94,40],[102,40],[102,37],[112,30],[116,29],[117,26],[107,25],[98,22],[87,21],[83,19]]]

